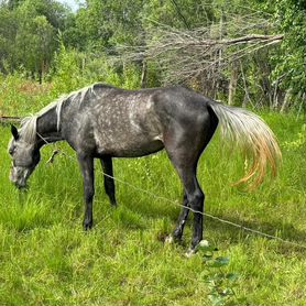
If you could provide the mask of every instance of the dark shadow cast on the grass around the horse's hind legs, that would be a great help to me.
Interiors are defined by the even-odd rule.
[[[166,217],[170,219],[173,226],[175,226],[181,210],[179,207],[173,207],[171,204],[166,204],[164,207],[162,207],[161,205],[155,207],[151,206],[150,209],[145,208],[145,204],[133,206],[133,204],[131,203],[123,201],[121,203],[121,205],[124,205],[129,210],[133,211],[134,214],[145,216],[146,218],[159,219]],[[187,228],[192,227],[192,215],[193,212],[189,214],[189,218],[186,225]],[[214,232],[215,240],[217,239],[219,241],[230,241],[231,244],[240,244],[242,240],[247,242],[251,237],[264,237],[259,233],[262,232],[288,241],[288,243],[281,241],[281,243],[277,245],[277,251],[280,253],[288,253],[294,251],[300,254],[305,254],[306,231],[297,229],[294,223],[284,223],[282,222],[282,220],[245,220],[243,218],[232,218],[230,216],[220,215],[216,217],[233,222],[237,225],[237,227],[222,222],[220,220],[205,217],[204,236],[206,236],[206,232]],[[252,232],[248,229],[259,232]],[[269,237],[265,237],[265,239],[273,240],[273,238]]]

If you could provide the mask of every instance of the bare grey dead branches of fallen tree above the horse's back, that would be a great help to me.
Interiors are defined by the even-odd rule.
[[[164,74],[165,83],[195,79],[198,76],[217,79],[223,68],[260,48],[282,41],[267,19],[258,13],[220,18],[216,24],[194,30],[177,30],[155,24],[140,46],[120,46],[124,61],[154,61]]]

